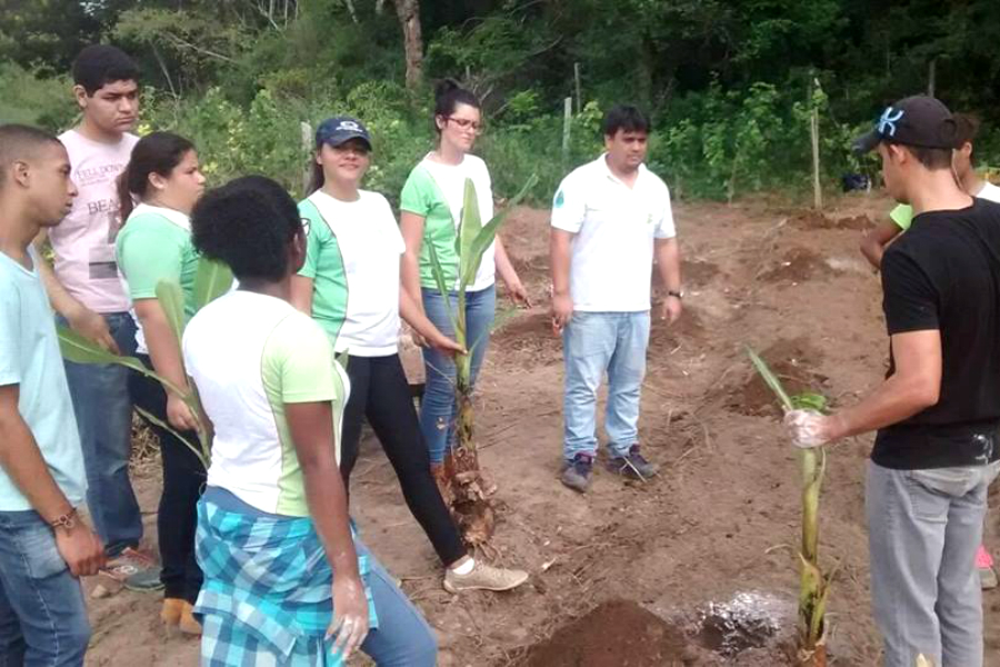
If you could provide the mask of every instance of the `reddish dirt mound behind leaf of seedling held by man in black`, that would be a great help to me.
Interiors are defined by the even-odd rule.
[[[806,339],[782,339],[759,354],[790,396],[803,391],[822,392],[823,386],[829,382],[827,376],[810,368],[822,359],[822,352],[812,348]],[[747,365],[750,375],[743,384],[726,391],[723,407],[738,415],[780,417],[781,408],[774,394],[749,361]]]

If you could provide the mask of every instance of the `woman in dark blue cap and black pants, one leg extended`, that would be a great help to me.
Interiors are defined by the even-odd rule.
[[[292,302],[310,313],[347,355],[351,392],[343,415],[340,469],[344,488],[358,459],[361,424],[382,444],[410,511],[447,566],[449,591],[508,590],[527,573],[472,559],[430,471],[409,384],[398,354],[400,315],[442,357],[461,348],[441,334],[400,289],[406,250],[384,197],[360,189],[371,163],[371,138],[360,120],[330,118],[316,133],[310,195],[299,203],[308,223],[306,261]]]

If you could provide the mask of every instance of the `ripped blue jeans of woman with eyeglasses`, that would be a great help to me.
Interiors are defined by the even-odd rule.
[[[458,295],[441,296],[433,289],[423,289],[423,310],[428,319],[450,338],[454,327],[448,316],[448,303],[452,311],[458,309]],[[479,291],[466,293],[466,335],[472,346],[472,382],[479,376],[486,349],[490,342],[490,330],[497,311],[497,289],[490,286]],[[454,360],[432,348],[423,349],[423,367],[427,386],[420,402],[420,432],[427,442],[431,464],[444,460],[444,450],[454,445]]]

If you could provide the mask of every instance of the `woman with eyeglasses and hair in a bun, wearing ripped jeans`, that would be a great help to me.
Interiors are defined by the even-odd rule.
[[[402,283],[413,300],[422,305],[428,319],[450,338],[454,327],[448,316],[458,307],[459,258],[454,240],[462,219],[466,179],[472,179],[483,225],[493,217],[493,192],[486,162],[470,153],[482,133],[479,99],[454,81],[446,80],[434,91],[434,130],[438,146],[410,172],[400,196],[400,228],[406,242]],[[452,291],[442,295],[434,280],[429,245],[433,245]],[[489,342],[497,306],[496,276],[511,298],[529,305],[498,236],[482,257],[476,279],[466,293],[467,340],[472,347],[472,381],[479,375]],[[441,482],[446,450],[454,440],[454,360],[431,347],[423,348],[427,387],[420,407],[420,430],[430,452],[431,470]]]

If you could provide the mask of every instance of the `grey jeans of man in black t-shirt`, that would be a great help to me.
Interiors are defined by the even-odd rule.
[[[893,470],[868,464],[866,508],[876,625],[886,667],[982,667],[976,550],[1000,462]]]

